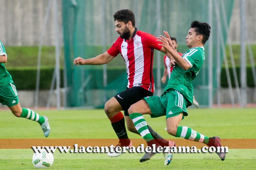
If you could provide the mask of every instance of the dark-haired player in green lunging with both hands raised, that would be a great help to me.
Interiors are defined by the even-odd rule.
[[[188,115],[186,108],[191,106],[193,101],[192,80],[195,79],[205,59],[203,46],[210,36],[210,29],[210,25],[205,22],[193,21],[186,36],[186,45],[189,50],[183,56],[178,54],[167,32],[164,31],[166,38],[164,36],[158,37],[158,41],[161,42],[159,46],[164,47],[173,56],[174,60],[171,60],[171,63],[175,67],[165,91],[160,97],[146,97],[128,109],[129,116],[138,132],[142,132],[141,129],[143,131],[147,129],[143,114],[150,114],[151,117],[165,115],[168,134],[187,140],[203,142],[209,147],[221,147],[220,138],[217,136],[209,138],[189,127],[178,126],[184,116]],[[153,144],[156,147],[159,146],[150,133],[141,136],[147,141],[148,146],[152,147]],[[217,154],[221,160],[225,159],[225,153]],[[153,155],[154,153],[151,153],[150,156]],[[171,160],[172,153],[169,153],[165,158],[164,164],[168,165]]]

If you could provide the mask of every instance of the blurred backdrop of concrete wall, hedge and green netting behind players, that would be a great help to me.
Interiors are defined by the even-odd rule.
[[[124,60],[101,66],[74,66],[73,59],[104,53],[118,38],[113,14],[131,9],[136,28],[177,38],[178,51],[194,20],[211,26],[205,61],[193,82],[200,107],[256,106],[256,1],[254,0],[0,0],[0,41],[6,69],[22,107],[103,108],[126,89]],[[155,50],[154,95],[164,54]],[[3,107],[3,106],[0,106]]]

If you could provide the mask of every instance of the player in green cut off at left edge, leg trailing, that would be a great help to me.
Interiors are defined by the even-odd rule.
[[[5,48],[0,41],[0,103],[7,105],[16,117],[24,117],[40,124],[45,137],[49,136],[50,126],[46,116],[40,116],[31,109],[22,108],[19,103],[18,93],[13,83],[12,76],[6,70],[4,63],[7,62]]]

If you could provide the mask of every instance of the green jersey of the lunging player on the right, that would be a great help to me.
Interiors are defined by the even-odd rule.
[[[170,88],[178,90],[188,100],[188,107],[193,102],[192,80],[195,79],[205,60],[204,47],[191,48],[182,57],[191,67],[188,70],[183,70],[176,64],[165,87],[165,91]]]

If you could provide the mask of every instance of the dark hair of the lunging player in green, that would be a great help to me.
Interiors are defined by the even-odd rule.
[[[193,21],[190,24],[190,28],[195,28],[196,35],[203,36],[203,44],[205,44],[205,42],[209,39],[211,27],[206,22]]]

